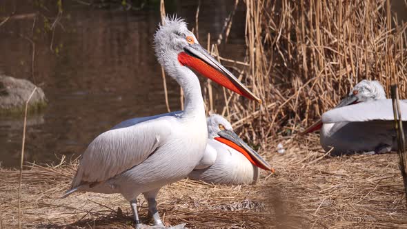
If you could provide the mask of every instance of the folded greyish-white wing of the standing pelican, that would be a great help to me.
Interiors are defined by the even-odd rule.
[[[172,117],[132,119],[99,135],[82,155],[72,188],[106,181],[146,160],[171,135]],[[131,125],[130,125],[131,123]]]

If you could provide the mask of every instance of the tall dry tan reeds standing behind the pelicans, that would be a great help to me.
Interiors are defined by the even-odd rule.
[[[264,103],[226,92],[224,114],[257,143],[276,132],[292,135],[361,79],[379,80],[387,92],[398,83],[406,97],[407,24],[389,0],[244,3],[247,55],[235,66]]]

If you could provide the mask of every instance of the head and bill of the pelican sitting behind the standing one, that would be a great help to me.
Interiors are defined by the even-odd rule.
[[[232,125],[221,115],[212,114],[206,119],[209,139],[215,139],[226,146],[241,152],[253,165],[268,171],[274,171],[270,164],[250,148],[236,133]]]

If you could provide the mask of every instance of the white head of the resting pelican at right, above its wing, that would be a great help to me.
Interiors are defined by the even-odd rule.
[[[386,92],[384,92],[383,86],[381,86],[379,81],[364,79],[357,83],[353,90],[348,94],[348,97],[342,99],[335,108],[377,99],[386,99]]]

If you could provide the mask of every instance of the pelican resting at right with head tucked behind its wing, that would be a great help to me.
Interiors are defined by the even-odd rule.
[[[407,121],[406,100],[400,101],[400,109],[403,121]],[[357,83],[345,99],[303,134],[320,128],[321,146],[326,152],[331,150],[331,155],[397,149],[393,104],[391,99],[386,99],[379,81],[365,79]]]

